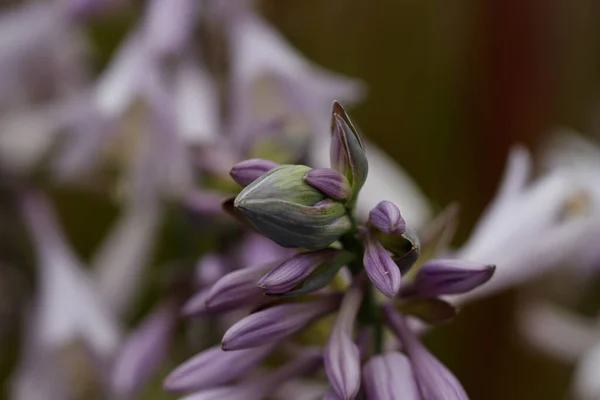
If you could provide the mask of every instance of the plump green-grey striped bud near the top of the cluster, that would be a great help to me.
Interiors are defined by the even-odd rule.
[[[351,228],[346,208],[304,181],[303,165],[281,165],[235,198],[234,207],[283,247],[326,248]]]

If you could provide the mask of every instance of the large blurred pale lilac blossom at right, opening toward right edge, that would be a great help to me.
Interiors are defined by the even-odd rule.
[[[496,198],[458,251],[460,258],[493,260],[498,266],[493,282],[462,300],[489,295],[568,263],[585,251],[585,238],[599,229],[598,210],[590,209],[590,215],[565,214],[570,200],[586,186],[561,168],[529,182],[530,163],[525,149],[512,151]]]

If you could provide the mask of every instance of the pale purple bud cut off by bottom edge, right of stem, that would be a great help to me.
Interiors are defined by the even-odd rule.
[[[386,353],[375,356],[363,368],[369,400],[419,400],[419,390],[405,355]]]

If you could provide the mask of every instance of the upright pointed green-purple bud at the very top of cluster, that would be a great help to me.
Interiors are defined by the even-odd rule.
[[[337,101],[333,102],[331,134],[331,167],[348,178],[356,198],[367,180],[369,164],[358,131]]]

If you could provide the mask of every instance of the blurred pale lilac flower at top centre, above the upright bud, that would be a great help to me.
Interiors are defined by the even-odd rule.
[[[295,114],[308,118],[316,136],[329,136],[329,110],[334,99],[352,102],[360,97],[356,81],[312,65],[262,17],[242,7],[229,14],[229,44],[232,65],[231,131],[240,134],[257,121],[259,109],[268,99],[257,101],[256,85],[270,79],[279,97],[269,103],[271,115]],[[276,114],[273,114],[276,113]],[[268,117],[262,115],[263,118]]]

